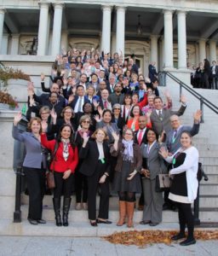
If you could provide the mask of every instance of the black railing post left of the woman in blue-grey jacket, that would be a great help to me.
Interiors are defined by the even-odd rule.
[[[16,174],[16,190],[15,190],[15,210],[14,210],[14,223],[21,222],[20,210],[20,193],[21,193],[21,177],[23,176],[23,169],[21,166],[17,167]]]

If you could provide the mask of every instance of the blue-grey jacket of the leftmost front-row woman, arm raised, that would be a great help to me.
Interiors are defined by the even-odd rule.
[[[41,143],[33,136],[32,132],[20,131],[17,126],[13,125],[12,136],[25,144],[26,156],[23,166],[41,169],[42,162],[43,166],[46,166],[46,158],[42,152]]]

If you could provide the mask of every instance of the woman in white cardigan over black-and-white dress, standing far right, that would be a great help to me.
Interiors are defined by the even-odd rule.
[[[172,236],[172,240],[185,238],[187,225],[188,236],[181,241],[181,246],[188,246],[196,243],[194,231],[194,218],[191,205],[197,197],[198,191],[198,149],[192,146],[192,136],[189,131],[181,133],[181,148],[172,156],[164,149],[160,149],[160,154],[166,161],[172,163],[173,169],[169,175],[173,177],[170,187],[169,199],[177,202],[179,209],[180,232]]]

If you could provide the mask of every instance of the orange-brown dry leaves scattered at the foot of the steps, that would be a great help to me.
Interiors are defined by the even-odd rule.
[[[145,247],[153,243],[164,243],[169,245],[171,236],[177,234],[178,231],[164,231],[164,230],[132,230],[126,232],[116,232],[111,236],[102,237],[106,241],[115,244],[135,245],[138,247]],[[196,230],[194,236],[197,240],[216,240],[218,239],[218,230]]]

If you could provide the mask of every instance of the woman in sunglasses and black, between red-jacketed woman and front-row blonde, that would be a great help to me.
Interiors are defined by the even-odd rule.
[[[92,135],[92,131],[89,130],[91,123],[90,116],[85,114],[79,120],[80,127],[75,134],[75,143],[77,144],[78,152],[83,145],[83,134],[88,137]],[[88,197],[88,184],[87,177],[79,172],[80,167],[83,164],[83,159],[79,158],[77,169],[75,172],[75,189],[76,189],[76,210],[87,210],[87,197]]]

